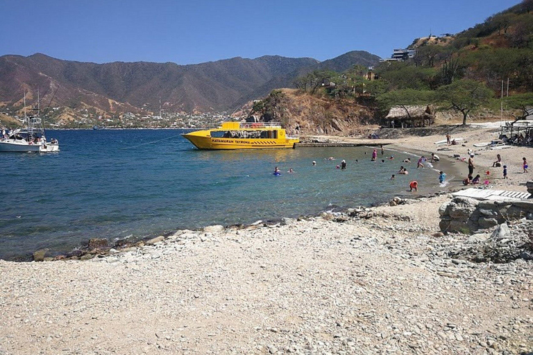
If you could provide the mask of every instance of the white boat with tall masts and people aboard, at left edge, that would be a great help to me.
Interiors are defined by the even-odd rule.
[[[37,96],[37,103],[38,101]],[[37,104],[37,108],[32,110],[37,111],[37,115],[26,116],[26,93],[24,93],[24,125],[2,135],[0,152],[48,153],[59,151],[59,143],[56,139],[46,141],[40,117],[40,105]]]

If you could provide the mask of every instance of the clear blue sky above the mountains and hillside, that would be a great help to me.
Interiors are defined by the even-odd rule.
[[[0,0],[0,55],[194,64],[262,55],[389,57],[520,0]]]

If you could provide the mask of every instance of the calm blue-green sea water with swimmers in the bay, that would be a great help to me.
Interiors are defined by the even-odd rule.
[[[370,161],[371,148],[202,151],[182,132],[49,130],[58,153],[1,153],[0,259],[65,252],[90,238],[139,239],[371,205],[408,194],[415,179],[421,193],[438,189],[438,173],[416,169],[416,159],[403,164],[405,153],[385,150],[395,159],[382,163]],[[341,159],[346,171],[335,168]],[[410,174],[390,180],[400,165]],[[275,166],[282,175],[272,174]]]

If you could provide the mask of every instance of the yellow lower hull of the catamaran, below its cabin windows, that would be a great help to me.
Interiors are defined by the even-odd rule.
[[[274,149],[294,148],[299,142],[296,138],[286,139],[247,139],[247,138],[214,138],[189,133],[183,135],[198,149],[222,150],[222,149]]]

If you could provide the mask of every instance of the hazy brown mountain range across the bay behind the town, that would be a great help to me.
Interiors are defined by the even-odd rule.
[[[351,51],[319,62],[313,58],[230,58],[201,64],[155,62],[96,64],[51,58],[42,53],[0,57],[0,107],[35,102],[99,113],[232,111],[279,87],[293,87],[314,70],[344,71],[355,64],[373,66],[379,57]]]

